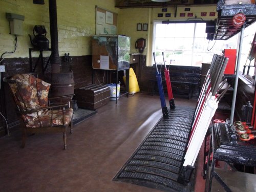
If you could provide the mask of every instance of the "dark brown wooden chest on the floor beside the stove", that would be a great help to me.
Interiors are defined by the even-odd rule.
[[[92,84],[74,90],[79,108],[97,109],[110,101],[110,87],[104,84]]]

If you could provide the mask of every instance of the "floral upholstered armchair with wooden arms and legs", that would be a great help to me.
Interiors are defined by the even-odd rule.
[[[16,74],[5,77],[4,81],[9,84],[22,124],[22,147],[25,147],[27,133],[61,132],[66,150],[66,132],[69,126],[70,133],[73,129],[70,101],[74,95],[48,98],[51,84],[32,74]]]

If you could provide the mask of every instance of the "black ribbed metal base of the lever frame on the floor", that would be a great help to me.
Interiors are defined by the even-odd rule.
[[[169,119],[160,119],[113,180],[164,191],[192,191],[193,181],[184,185],[177,180],[194,111],[188,106],[169,111]]]

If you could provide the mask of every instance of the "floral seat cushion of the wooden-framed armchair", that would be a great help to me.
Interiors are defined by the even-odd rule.
[[[68,108],[64,112],[65,114],[65,125],[69,124],[72,120],[73,109]],[[49,126],[59,126],[63,125],[63,111],[62,110],[45,110],[40,115],[39,118],[22,115],[26,127],[49,127]],[[40,121],[39,121],[40,120]],[[52,122],[51,122],[52,121]]]

